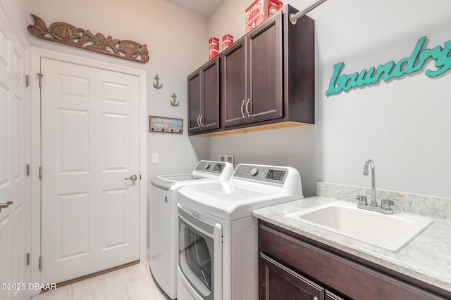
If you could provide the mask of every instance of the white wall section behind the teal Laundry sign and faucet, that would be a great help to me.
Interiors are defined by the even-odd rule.
[[[349,4],[348,4],[349,3]],[[450,1],[336,1],[311,13],[316,20],[316,136],[319,179],[451,197],[451,74],[422,72],[326,98],[335,63],[348,73],[409,57],[420,37],[428,47],[451,40]],[[341,33],[342,32],[342,33]]]

